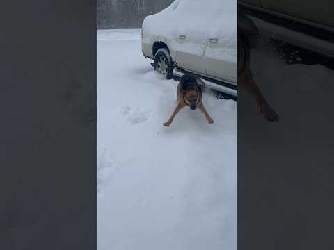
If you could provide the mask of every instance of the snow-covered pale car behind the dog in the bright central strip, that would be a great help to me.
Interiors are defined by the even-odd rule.
[[[192,72],[237,85],[235,0],[175,0],[145,17],[141,38],[143,55],[166,78]]]

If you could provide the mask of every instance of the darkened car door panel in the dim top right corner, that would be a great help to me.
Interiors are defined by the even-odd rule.
[[[334,28],[333,0],[261,0],[261,3],[268,10]]]

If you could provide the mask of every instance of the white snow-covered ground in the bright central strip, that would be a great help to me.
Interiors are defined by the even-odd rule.
[[[97,247],[237,249],[237,103],[175,108],[140,30],[97,31]]]

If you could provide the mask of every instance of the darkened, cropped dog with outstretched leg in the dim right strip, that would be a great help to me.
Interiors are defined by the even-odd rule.
[[[238,85],[253,96],[260,108],[260,113],[269,122],[277,122],[278,115],[264,99],[250,71],[250,44],[248,38],[259,33],[253,21],[241,12],[238,12]]]

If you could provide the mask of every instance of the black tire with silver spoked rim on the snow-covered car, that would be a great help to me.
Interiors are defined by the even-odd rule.
[[[167,79],[173,77],[173,62],[168,49],[158,49],[154,55],[154,69]]]

